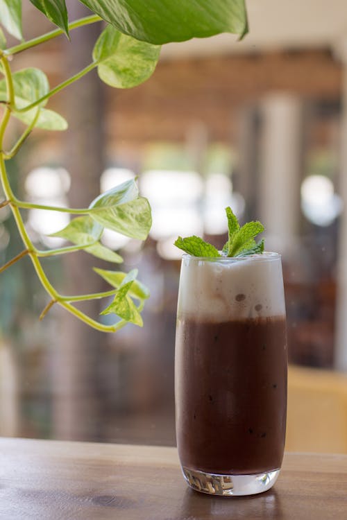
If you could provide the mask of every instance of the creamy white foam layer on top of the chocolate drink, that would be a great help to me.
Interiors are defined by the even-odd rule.
[[[206,261],[185,255],[178,294],[182,315],[214,322],[285,315],[280,256]]]

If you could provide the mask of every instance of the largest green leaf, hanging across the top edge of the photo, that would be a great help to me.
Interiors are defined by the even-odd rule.
[[[248,31],[244,0],[81,0],[121,33],[152,44]]]

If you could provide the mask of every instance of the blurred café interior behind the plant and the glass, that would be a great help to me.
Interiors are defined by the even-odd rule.
[[[20,198],[84,207],[138,176],[153,208],[146,243],[113,232],[124,270],[151,289],[144,327],[105,335],[47,303],[24,258],[1,274],[0,435],[175,444],[174,336],[178,235],[226,241],[224,208],[266,226],[282,253],[288,317],[287,449],[347,453],[347,11],[344,0],[248,0],[250,33],[169,44],[152,78],[128,91],[92,72],[53,97],[67,132],[35,130],[8,163]],[[85,8],[68,2],[70,19]],[[52,26],[24,3],[26,39]],[[51,85],[91,61],[95,24],[19,54]],[[19,135],[18,124],[12,137]],[[22,250],[0,210],[1,264]],[[35,243],[66,214],[29,211]],[[103,291],[80,252],[45,261],[65,293]],[[116,266],[117,268],[117,266]],[[105,302],[103,302],[105,306]],[[97,315],[100,302],[88,312]]]

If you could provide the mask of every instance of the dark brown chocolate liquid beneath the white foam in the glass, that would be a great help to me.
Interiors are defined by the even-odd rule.
[[[287,403],[285,318],[220,323],[183,318],[176,349],[183,467],[224,475],[280,468]]]

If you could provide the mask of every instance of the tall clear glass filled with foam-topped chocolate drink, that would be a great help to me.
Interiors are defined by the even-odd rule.
[[[178,454],[191,487],[248,495],[273,486],[287,411],[279,254],[183,255],[175,392]]]

